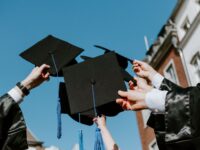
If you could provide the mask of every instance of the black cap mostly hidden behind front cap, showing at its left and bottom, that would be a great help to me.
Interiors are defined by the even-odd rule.
[[[68,114],[73,120],[86,124],[86,125],[92,125],[93,124],[93,118],[89,117],[88,115],[83,115],[81,113],[77,114],[71,114],[70,113],[70,107],[69,107],[69,99],[67,95],[67,90],[64,82],[60,82],[59,85],[59,98],[61,102],[61,113]]]

